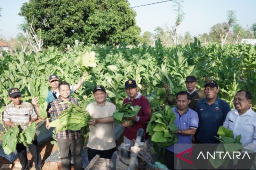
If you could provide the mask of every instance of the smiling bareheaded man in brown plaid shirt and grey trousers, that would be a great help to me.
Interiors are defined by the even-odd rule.
[[[70,86],[67,82],[63,81],[59,84],[59,91],[60,97],[55,99],[51,103],[51,109],[49,113],[54,116],[54,119],[58,119],[61,112],[69,107],[68,104],[63,104],[63,101],[69,101],[78,105],[76,98],[69,97],[70,94]],[[50,129],[49,127],[49,118],[46,118],[46,128]],[[56,130],[56,129],[55,129]],[[82,144],[82,137],[81,137],[80,130],[65,130],[60,131],[56,134],[57,143],[60,148],[60,160],[62,163],[63,170],[70,170],[69,166],[69,157],[68,152],[69,148],[71,151],[71,155],[74,159],[74,166],[76,170],[81,169],[81,144]]]

